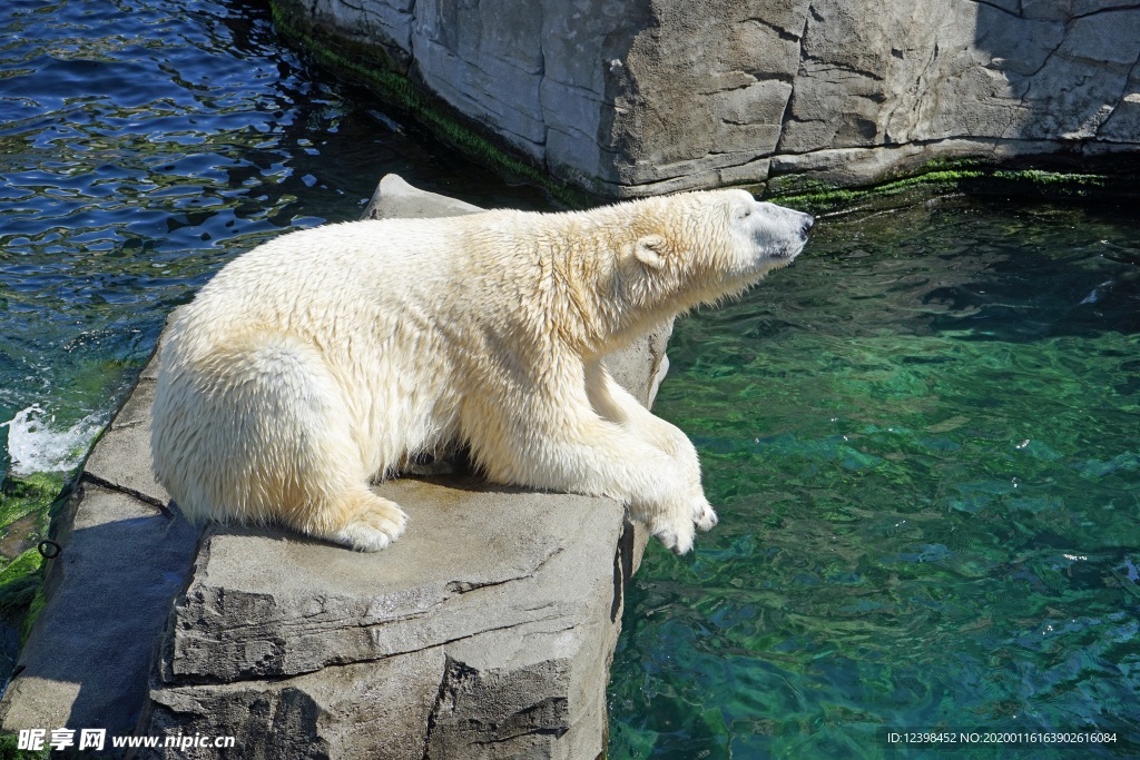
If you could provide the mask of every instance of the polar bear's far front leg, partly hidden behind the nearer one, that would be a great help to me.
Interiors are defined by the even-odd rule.
[[[635,435],[673,457],[689,483],[692,520],[702,531],[717,524],[716,512],[705,497],[701,464],[689,436],[653,415],[618,385],[601,361],[586,365],[586,393],[594,410],[605,419],[628,427]]]

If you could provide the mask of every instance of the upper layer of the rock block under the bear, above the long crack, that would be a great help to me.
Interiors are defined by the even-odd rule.
[[[375,554],[278,530],[211,529],[174,610],[163,680],[292,676],[488,629],[573,626],[583,593],[598,583],[613,593],[624,521],[613,501],[455,477],[376,490],[409,524]]]

